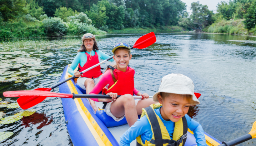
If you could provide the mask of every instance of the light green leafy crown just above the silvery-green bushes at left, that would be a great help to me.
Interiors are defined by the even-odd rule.
[[[67,17],[75,16],[75,14],[79,14],[77,10],[73,11],[71,8],[67,9],[66,7],[60,7],[56,9],[54,16],[63,19],[64,22],[67,22]]]

